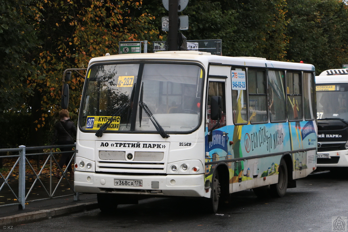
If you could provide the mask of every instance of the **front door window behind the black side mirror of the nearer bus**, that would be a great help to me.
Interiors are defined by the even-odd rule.
[[[208,130],[210,130],[217,121],[210,119],[210,98],[212,96],[221,96],[222,97],[222,118],[220,120],[220,125],[215,127],[215,129],[226,126],[226,92],[225,92],[225,83],[224,82],[213,82],[209,81],[208,86],[208,101],[207,101],[207,117],[208,117]]]

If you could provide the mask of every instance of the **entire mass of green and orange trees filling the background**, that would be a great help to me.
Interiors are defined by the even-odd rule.
[[[148,40],[151,51],[167,38],[159,0],[0,0],[0,11],[0,120],[11,127],[3,146],[50,141],[65,69],[118,54],[119,41]],[[303,61],[317,73],[348,63],[344,1],[190,0],[180,14],[189,16],[188,40],[222,39],[223,55]],[[84,79],[68,83],[76,120]]]

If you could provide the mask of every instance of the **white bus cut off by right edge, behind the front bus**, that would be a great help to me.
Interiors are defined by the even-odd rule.
[[[348,167],[348,69],[315,77],[318,119],[318,168],[340,173]],[[343,174],[343,173],[342,173]]]

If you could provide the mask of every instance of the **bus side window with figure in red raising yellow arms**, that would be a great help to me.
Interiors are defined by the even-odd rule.
[[[287,116],[289,120],[302,120],[302,92],[300,73],[286,73]]]

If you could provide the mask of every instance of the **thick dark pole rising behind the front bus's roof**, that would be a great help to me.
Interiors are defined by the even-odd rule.
[[[178,0],[169,0],[169,31],[168,31],[168,50],[177,51],[177,8]]]

